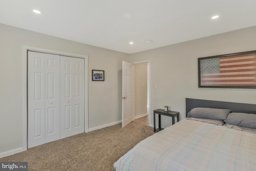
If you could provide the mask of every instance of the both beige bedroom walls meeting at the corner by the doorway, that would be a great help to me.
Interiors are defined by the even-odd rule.
[[[186,97],[256,104],[255,89],[198,88],[197,73],[197,58],[256,50],[255,40],[256,26],[128,55],[0,24],[0,154],[23,146],[22,45],[89,56],[88,115],[94,128],[122,119],[122,60],[151,60],[151,113],[169,105],[184,118]],[[105,70],[105,81],[92,82],[92,69]],[[163,118],[164,127],[170,125]]]

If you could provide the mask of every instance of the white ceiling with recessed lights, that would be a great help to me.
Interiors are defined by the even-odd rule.
[[[255,7],[256,0],[0,0],[0,23],[131,54],[255,26]]]

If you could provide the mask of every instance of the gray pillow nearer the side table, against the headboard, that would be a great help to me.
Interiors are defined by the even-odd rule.
[[[206,107],[196,107],[188,112],[188,117],[197,117],[205,119],[224,120],[227,118],[230,109],[215,109]]]

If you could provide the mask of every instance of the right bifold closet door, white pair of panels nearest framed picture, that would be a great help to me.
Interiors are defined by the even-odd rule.
[[[60,138],[84,132],[84,59],[60,58]]]

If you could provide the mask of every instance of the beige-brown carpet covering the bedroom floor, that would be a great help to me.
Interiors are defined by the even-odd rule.
[[[114,162],[138,142],[153,135],[152,127],[136,121],[81,133],[0,161],[28,161],[30,171],[114,171]]]

